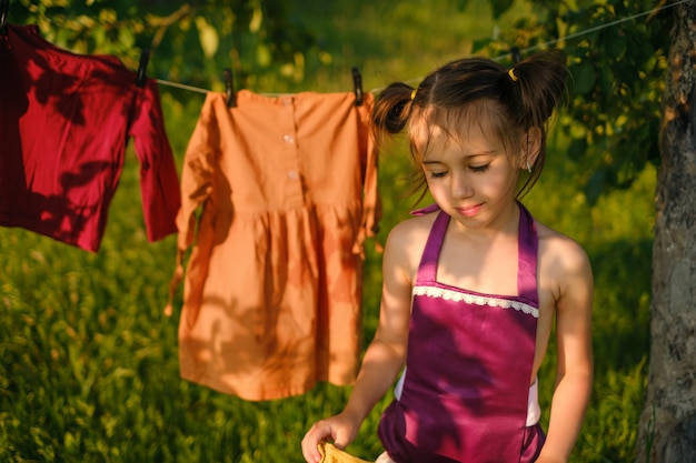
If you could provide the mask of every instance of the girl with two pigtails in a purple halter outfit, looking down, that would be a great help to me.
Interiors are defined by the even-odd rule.
[[[389,233],[377,333],[345,410],[305,435],[307,462],[324,440],[348,445],[399,372],[378,462],[568,461],[591,389],[593,275],[585,251],[518,201],[544,167],[563,61],[557,50],[510,70],[463,59],[379,95],[378,141],[407,129],[436,204]],[[554,319],[545,435],[536,380]]]

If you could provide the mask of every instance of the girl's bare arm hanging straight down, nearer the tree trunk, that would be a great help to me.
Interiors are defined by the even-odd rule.
[[[546,443],[537,463],[567,462],[583,425],[593,382],[593,274],[585,251],[561,240],[557,256],[558,365]]]

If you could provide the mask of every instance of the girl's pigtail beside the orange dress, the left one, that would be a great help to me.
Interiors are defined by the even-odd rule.
[[[402,82],[391,83],[377,97],[372,110],[372,129],[379,143],[385,133],[396,134],[404,130],[416,90]]]

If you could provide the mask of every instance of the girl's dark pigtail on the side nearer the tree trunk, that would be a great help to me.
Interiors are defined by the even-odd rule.
[[[519,127],[544,128],[567,95],[565,54],[550,49],[517,63],[500,76],[503,102]]]

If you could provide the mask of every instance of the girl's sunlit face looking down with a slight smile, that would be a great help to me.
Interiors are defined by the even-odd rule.
[[[457,138],[431,129],[421,160],[428,189],[440,209],[471,229],[507,223],[507,214],[515,211],[519,174],[518,155],[506,153],[481,124],[470,123]]]

